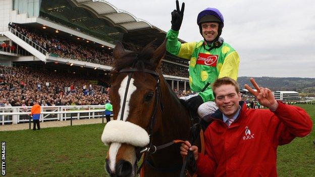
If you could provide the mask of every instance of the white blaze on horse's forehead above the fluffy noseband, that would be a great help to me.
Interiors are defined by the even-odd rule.
[[[126,105],[125,105],[125,110],[124,110],[124,115],[123,115],[123,120],[126,121],[128,115],[129,115],[129,101],[131,98],[131,95],[137,90],[137,87],[133,84],[134,79],[131,78],[130,79],[130,83],[129,83],[129,87],[127,88],[127,98],[126,98]],[[119,90],[118,90],[118,94],[120,96],[120,109],[119,109],[119,113],[117,116],[117,119],[120,119],[121,114],[122,114],[122,109],[123,109],[123,103],[124,103],[124,97],[125,97],[125,92],[126,92],[126,87],[128,84],[128,76],[126,76],[123,81],[120,84]]]

